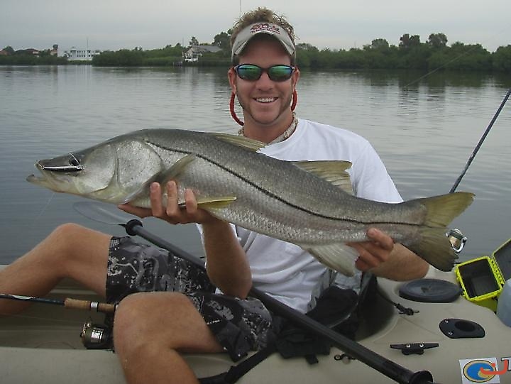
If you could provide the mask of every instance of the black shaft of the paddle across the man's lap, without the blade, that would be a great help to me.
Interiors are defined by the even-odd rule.
[[[183,258],[190,263],[198,265],[200,268],[204,268],[204,263],[202,260],[199,260],[199,258],[196,256],[193,256],[192,254],[183,251],[168,241],[165,241],[163,238],[160,238],[155,234],[151,234],[149,231],[146,231],[143,228],[141,221],[133,219],[128,221],[128,223],[123,224],[123,226],[126,229],[126,233],[128,235],[141,236],[156,246],[167,249],[167,251],[174,253],[176,256],[179,256],[180,258]],[[361,361],[362,363],[365,363],[380,373],[383,373],[385,376],[395,380],[397,383],[431,384],[433,382],[432,374],[428,371],[412,372],[407,368],[402,367],[393,361],[390,361],[388,358],[385,358],[378,353],[367,349],[365,346],[358,344],[356,341],[348,339],[346,336],[338,334],[336,331],[325,327],[319,322],[316,322],[314,319],[311,319],[305,314],[298,312],[296,309],[282,304],[265,292],[261,292],[260,290],[252,287],[251,294],[263,302],[263,304],[270,311],[289,319],[293,323],[303,327],[304,329],[307,329],[308,331],[312,331],[314,334],[324,336],[326,339],[329,339],[329,341],[331,341],[332,344],[334,344],[337,348],[341,349],[345,353],[348,353],[349,356],[356,358],[358,361]]]

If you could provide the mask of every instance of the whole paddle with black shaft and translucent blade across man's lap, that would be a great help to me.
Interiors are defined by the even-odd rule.
[[[161,248],[174,253],[176,256],[199,265],[204,268],[202,260],[193,256],[186,251],[174,246],[172,243],[165,241],[163,238],[151,234],[143,228],[142,222],[139,219],[133,219],[132,215],[126,214],[121,216],[120,212],[111,212],[114,206],[108,204],[101,204],[98,202],[77,202],[73,207],[84,216],[89,217],[95,221],[100,221],[104,224],[116,224],[123,226],[126,233],[130,236],[141,236],[145,240],[159,246]],[[120,220],[119,220],[120,219]],[[433,384],[433,377],[429,371],[412,372],[405,367],[400,366],[394,361],[388,360],[378,353],[367,349],[365,346],[358,344],[356,341],[348,339],[346,336],[338,334],[337,332],[325,327],[324,325],[316,322],[315,320],[307,317],[306,315],[298,312],[297,310],[282,304],[275,300],[270,295],[262,292],[254,287],[251,289],[251,295],[257,297],[263,304],[270,309],[270,311],[282,317],[289,319],[291,322],[297,324],[303,329],[313,332],[319,336],[329,339],[334,346],[341,349],[349,356],[358,359],[362,363],[374,368],[375,370],[383,373],[388,378],[395,380],[397,383],[402,384]]]

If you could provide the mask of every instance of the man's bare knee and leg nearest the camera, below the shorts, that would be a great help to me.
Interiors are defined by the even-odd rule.
[[[198,383],[180,353],[223,351],[192,302],[176,292],[136,293],[122,300],[114,346],[130,384]]]

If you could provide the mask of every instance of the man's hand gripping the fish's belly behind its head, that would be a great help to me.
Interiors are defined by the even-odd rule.
[[[154,216],[170,224],[207,224],[216,219],[209,212],[200,209],[192,190],[185,190],[185,207],[178,204],[177,184],[175,181],[167,182],[167,201],[163,204],[162,186],[158,182],[150,185],[150,208],[133,207],[130,204],[121,204],[119,209],[139,217]]]

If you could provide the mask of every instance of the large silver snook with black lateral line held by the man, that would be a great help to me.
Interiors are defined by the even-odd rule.
[[[325,265],[353,275],[344,243],[385,231],[440,270],[456,258],[446,226],[473,200],[456,192],[400,204],[353,197],[342,161],[288,162],[258,153],[264,144],[224,133],[147,129],[111,138],[35,166],[27,180],[66,192],[150,207],[149,185],[176,180],[199,206],[246,229],[295,243]]]

